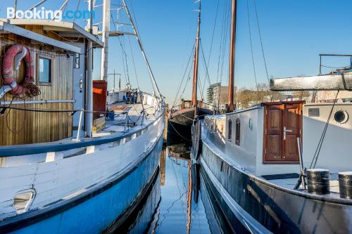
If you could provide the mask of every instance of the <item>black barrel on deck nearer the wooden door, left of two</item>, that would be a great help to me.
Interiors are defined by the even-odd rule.
[[[307,170],[308,193],[325,195],[330,193],[330,171],[326,169]]]

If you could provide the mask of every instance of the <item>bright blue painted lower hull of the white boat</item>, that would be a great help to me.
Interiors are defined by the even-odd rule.
[[[124,214],[149,183],[160,162],[163,138],[130,174],[102,193],[14,233],[101,233]]]

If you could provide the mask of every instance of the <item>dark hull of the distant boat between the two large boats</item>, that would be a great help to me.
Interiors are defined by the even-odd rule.
[[[212,114],[212,110],[198,109],[199,119]],[[194,119],[194,108],[172,112],[168,118],[168,145],[175,143],[191,143],[191,126]]]

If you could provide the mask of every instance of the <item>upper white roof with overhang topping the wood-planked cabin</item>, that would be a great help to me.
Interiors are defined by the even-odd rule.
[[[28,19],[2,19],[4,22],[8,22],[11,25],[17,26],[42,26],[43,30],[54,31],[60,37],[70,38],[85,38],[93,41],[93,46],[96,48],[103,48],[103,41],[101,41],[96,35],[87,32],[84,28],[77,25],[75,22],[63,22],[55,20],[28,20]]]

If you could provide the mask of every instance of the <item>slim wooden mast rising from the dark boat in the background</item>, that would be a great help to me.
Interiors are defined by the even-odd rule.
[[[194,116],[197,115],[197,86],[198,86],[198,67],[199,67],[199,40],[201,34],[201,1],[199,1],[198,12],[198,32],[196,37],[196,49],[194,50],[194,69],[193,69],[193,87],[192,87],[192,106],[194,107]]]

